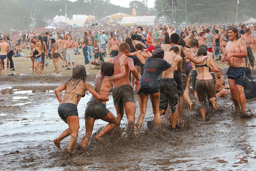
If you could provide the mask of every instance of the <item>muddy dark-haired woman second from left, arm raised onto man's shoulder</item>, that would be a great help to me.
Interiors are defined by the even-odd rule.
[[[94,90],[100,95],[108,97],[108,94],[112,91],[112,84],[115,81],[125,76],[124,59],[126,55],[122,55],[120,59],[121,73],[114,74],[114,65],[110,62],[102,64],[100,72],[96,75],[94,82]],[[115,129],[118,126],[118,121],[111,111],[106,108],[105,100],[97,100],[92,95],[91,100],[87,103],[85,109],[85,136],[81,140],[81,146],[86,148],[89,139],[92,135],[93,125],[96,119],[101,119],[108,122],[98,135],[94,137],[97,141],[105,144],[102,141],[102,137],[109,131]]]

